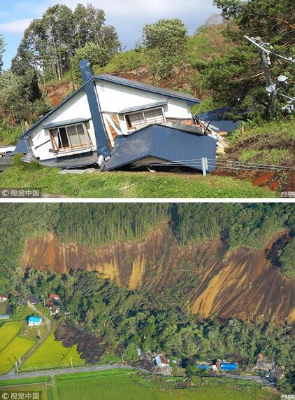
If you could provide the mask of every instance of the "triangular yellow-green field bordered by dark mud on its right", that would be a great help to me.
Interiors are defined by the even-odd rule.
[[[51,333],[36,352],[24,362],[22,371],[34,368],[71,366],[71,357],[73,366],[85,363],[85,360],[80,359],[76,345],[71,348],[64,347],[62,342],[55,340],[53,333]]]

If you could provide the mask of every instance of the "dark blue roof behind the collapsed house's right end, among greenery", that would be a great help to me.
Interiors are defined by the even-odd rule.
[[[229,112],[231,112],[231,107],[221,107],[220,109],[198,114],[198,117],[206,123],[210,122],[210,127],[213,130],[217,128],[220,131],[230,133],[238,128],[240,121],[226,119],[225,114]]]

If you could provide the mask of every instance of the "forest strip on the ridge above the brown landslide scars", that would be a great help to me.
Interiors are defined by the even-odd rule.
[[[168,221],[180,245],[222,238],[230,249],[263,247],[279,230],[295,234],[292,204],[3,204],[0,209],[0,273],[13,275],[29,237],[55,232],[65,243],[99,247],[138,240]],[[294,241],[294,240],[293,240]],[[280,259],[294,273],[293,242]]]

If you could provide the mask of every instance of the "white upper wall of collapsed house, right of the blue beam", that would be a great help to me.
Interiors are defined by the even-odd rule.
[[[120,113],[124,109],[134,106],[145,106],[157,102],[167,102],[163,106],[166,118],[192,118],[189,106],[185,100],[170,98],[166,95],[147,92],[137,88],[120,85],[119,83],[99,81],[96,79],[96,92],[99,97],[101,111],[105,113]],[[120,118],[120,127],[123,134],[128,131],[124,118]]]

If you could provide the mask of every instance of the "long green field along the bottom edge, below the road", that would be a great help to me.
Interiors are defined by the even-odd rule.
[[[128,370],[59,375],[55,380],[60,400],[275,399],[271,393],[266,397],[265,390],[254,382],[195,379],[193,387],[177,389],[176,385],[182,382],[179,378],[150,376],[146,379]]]

